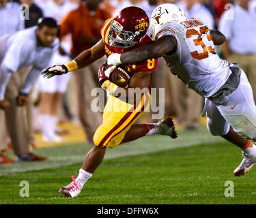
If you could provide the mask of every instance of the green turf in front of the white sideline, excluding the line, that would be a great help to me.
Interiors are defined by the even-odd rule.
[[[105,159],[74,199],[58,189],[81,164],[12,173],[0,176],[0,204],[255,204],[256,171],[233,176],[240,161],[240,150],[223,141]],[[19,196],[23,180],[29,198]],[[235,185],[233,198],[224,196],[225,181]]]

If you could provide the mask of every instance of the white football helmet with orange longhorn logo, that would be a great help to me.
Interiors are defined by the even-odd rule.
[[[182,22],[184,20],[186,20],[186,14],[179,6],[171,3],[159,5],[151,15],[150,37],[152,37],[154,40],[154,33],[156,33],[156,30],[166,22]]]

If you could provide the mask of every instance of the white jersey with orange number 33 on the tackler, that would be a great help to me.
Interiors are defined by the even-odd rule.
[[[216,54],[206,25],[195,19],[167,22],[150,36],[158,40],[164,35],[173,35],[177,40],[175,54],[164,58],[171,72],[179,76],[187,87],[203,97],[210,97],[225,84],[231,74],[231,63]]]

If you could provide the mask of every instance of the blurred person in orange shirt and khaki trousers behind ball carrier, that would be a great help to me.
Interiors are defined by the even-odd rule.
[[[101,40],[100,29],[111,17],[108,10],[100,7],[102,0],[82,1],[79,8],[69,12],[61,22],[61,37],[72,34],[72,59]],[[93,144],[93,136],[101,122],[101,114],[91,111],[91,90],[99,87],[98,68],[105,59],[74,72],[79,98],[79,116],[87,134],[87,142]]]

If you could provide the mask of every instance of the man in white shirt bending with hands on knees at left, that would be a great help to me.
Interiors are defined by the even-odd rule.
[[[42,18],[38,27],[18,31],[0,38],[0,108],[5,118],[18,161],[42,161],[29,151],[26,117],[23,113],[27,95],[38,80],[40,72],[51,61],[59,45],[58,27],[53,18]],[[23,84],[18,71],[32,66]]]

